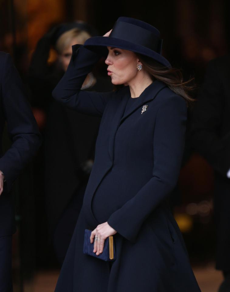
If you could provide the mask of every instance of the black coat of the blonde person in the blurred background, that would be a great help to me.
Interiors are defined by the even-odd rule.
[[[62,263],[82,206],[101,120],[65,108],[52,98],[52,90],[64,74],[57,63],[47,63],[53,41],[50,33],[39,40],[29,70],[32,105],[46,114],[46,125],[42,131],[44,143],[36,160],[39,192],[36,204],[37,236],[44,234],[37,247],[37,261],[41,265],[46,265],[47,259],[42,246],[48,250],[44,231],[47,221],[40,216],[41,210],[46,206],[49,234],[55,255]],[[97,70],[94,70],[94,76],[97,82],[88,88],[89,91],[112,90],[111,82]],[[41,184],[43,178],[44,185]]]

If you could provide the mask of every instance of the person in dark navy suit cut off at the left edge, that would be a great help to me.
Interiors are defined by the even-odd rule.
[[[11,248],[15,220],[11,187],[38,150],[41,136],[9,54],[0,52],[0,141],[5,122],[12,146],[0,146],[0,292],[12,291]]]

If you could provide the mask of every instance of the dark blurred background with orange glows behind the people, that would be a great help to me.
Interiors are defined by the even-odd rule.
[[[160,30],[163,55],[173,66],[183,69],[185,79],[194,77],[198,90],[207,63],[228,54],[229,12],[227,0],[0,0],[0,50],[12,55],[28,88],[28,98],[33,99],[28,86],[29,63],[38,40],[50,28],[83,20],[103,35],[112,29],[119,16],[133,17]],[[55,51],[50,50],[48,62],[55,58]],[[5,149],[8,145],[6,134]],[[14,186],[18,225],[13,239],[15,291],[36,290],[33,285],[40,271],[58,274],[59,265],[47,230],[44,193],[37,192],[34,186],[34,175],[42,172],[36,170],[35,162]],[[213,170],[193,151],[189,136],[173,205],[193,267],[199,269],[214,263]],[[52,278],[52,272],[50,275]]]

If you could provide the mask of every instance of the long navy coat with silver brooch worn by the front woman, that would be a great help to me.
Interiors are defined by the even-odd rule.
[[[166,202],[180,172],[186,102],[154,81],[123,116],[129,86],[109,93],[80,90],[99,58],[83,45],[73,46],[67,72],[53,90],[66,106],[101,117],[94,166],[55,292],[198,292]],[[148,107],[141,113],[143,105]],[[107,185],[111,172],[114,180]],[[103,180],[107,196],[101,202],[97,188]],[[105,206],[104,218],[93,212],[92,199],[94,206]],[[83,254],[84,230],[103,223],[98,217],[117,231],[114,262]]]

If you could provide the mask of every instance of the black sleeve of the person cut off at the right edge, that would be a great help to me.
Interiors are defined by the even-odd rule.
[[[193,109],[191,134],[195,150],[226,177],[230,168],[230,132],[222,137],[220,135],[224,98],[218,68],[215,62],[210,62]]]

